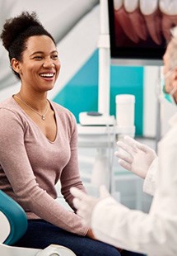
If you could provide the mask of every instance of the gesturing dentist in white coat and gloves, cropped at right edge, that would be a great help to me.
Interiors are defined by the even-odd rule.
[[[164,55],[165,93],[177,102],[177,27]],[[168,75],[167,75],[168,74]],[[153,194],[148,214],[130,210],[100,187],[100,198],[72,188],[74,206],[97,239],[148,256],[176,256],[177,236],[177,113],[159,143],[159,158],[145,145],[128,137],[118,142],[127,154],[116,152],[119,164],[145,178],[144,190]]]

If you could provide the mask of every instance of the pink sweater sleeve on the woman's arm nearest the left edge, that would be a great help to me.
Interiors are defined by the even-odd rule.
[[[86,235],[87,227],[74,212],[59,205],[39,184],[30,165],[24,135],[26,124],[15,111],[0,109],[0,164],[16,201],[40,218],[77,235]]]

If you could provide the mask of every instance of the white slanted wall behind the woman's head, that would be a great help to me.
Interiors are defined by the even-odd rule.
[[[99,0],[0,0],[0,31],[4,21],[22,11],[35,11],[57,42],[62,69],[54,97],[82,67],[97,47]],[[17,92],[19,82],[10,69],[7,51],[0,40],[0,102]]]

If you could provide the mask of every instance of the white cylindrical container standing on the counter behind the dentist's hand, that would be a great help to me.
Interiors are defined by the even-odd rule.
[[[115,97],[116,123],[119,127],[134,126],[135,97],[132,94],[119,94]]]

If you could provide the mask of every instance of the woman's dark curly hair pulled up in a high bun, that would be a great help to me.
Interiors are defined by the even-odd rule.
[[[5,21],[1,34],[2,45],[8,51],[10,61],[12,58],[21,61],[22,53],[26,50],[26,41],[28,38],[30,36],[43,35],[49,36],[54,41],[53,36],[44,29],[35,12],[21,12],[21,15]],[[17,78],[20,78],[18,73],[14,73]]]

